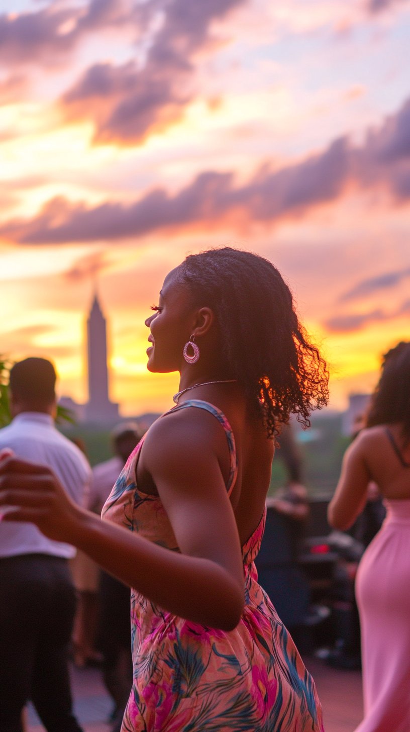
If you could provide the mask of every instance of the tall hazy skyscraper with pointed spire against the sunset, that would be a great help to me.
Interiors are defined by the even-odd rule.
[[[113,404],[108,397],[107,327],[97,294],[87,321],[87,355],[89,401],[86,421],[108,425],[116,422],[119,414],[118,404]]]

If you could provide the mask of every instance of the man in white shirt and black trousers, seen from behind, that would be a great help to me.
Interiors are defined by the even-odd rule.
[[[56,372],[29,358],[10,371],[12,423],[0,449],[48,465],[68,495],[83,504],[91,479],[85,456],[54,426]],[[75,589],[67,559],[75,548],[47,539],[32,523],[0,521],[0,732],[21,732],[33,701],[48,732],[81,732],[72,714],[68,645]]]

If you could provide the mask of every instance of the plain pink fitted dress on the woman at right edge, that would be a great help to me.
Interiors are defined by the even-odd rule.
[[[410,500],[385,503],[357,572],[365,719],[356,732],[410,731]]]

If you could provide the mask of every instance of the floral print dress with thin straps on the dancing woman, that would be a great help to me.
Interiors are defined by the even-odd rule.
[[[237,472],[231,427],[217,407],[201,400],[186,401],[171,411],[188,407],[206,409],[225,430],[231,455],[229,494]],[[105,503],[103,518],[179,551],[160,498],[136,485],[142,443],[127,460]],[[313,679],[258,585],[253,561],[265,517],[266,511],[242,547],[245,608],[235,630],[225,632],[184,620],[131,590],[133,689],[122,732],[323,731]]]

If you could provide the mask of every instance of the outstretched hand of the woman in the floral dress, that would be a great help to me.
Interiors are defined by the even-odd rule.
[[[12,510],[1,515],[1,506]],[[29,521],[49,539],[72,543],[81,509],[67,496],[51,468],[14,455],[0,456],[0,515],[3,521]]]

